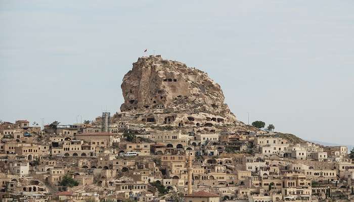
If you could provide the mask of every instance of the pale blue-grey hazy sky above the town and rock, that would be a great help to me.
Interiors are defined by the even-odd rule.
[[[123,103],[144,55],[222,87],[245,123],[354,144],[354,1],[0,0],[0,119],[71,124]]]

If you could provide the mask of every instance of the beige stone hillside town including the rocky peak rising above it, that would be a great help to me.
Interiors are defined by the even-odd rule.
[[[92,121],[0,122],[1,201],[354,201],[354,150],[237,120],[200,70],[142,57],[121,88]]]

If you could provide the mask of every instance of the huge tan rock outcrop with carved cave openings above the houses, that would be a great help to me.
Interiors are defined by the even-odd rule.
[[[223,90],[207,73],[161,56],[139,58],[121,88],[123,119],[171,126],[236,123]]]

